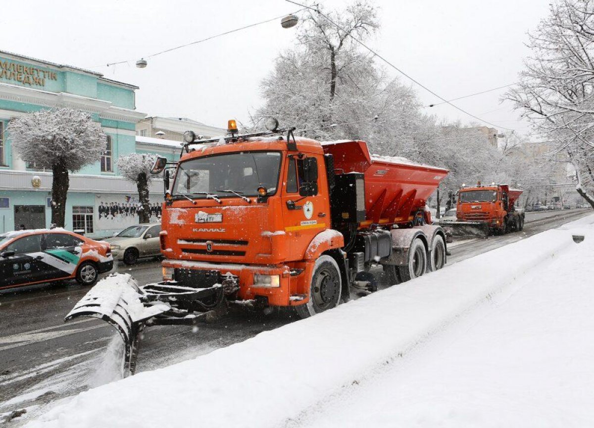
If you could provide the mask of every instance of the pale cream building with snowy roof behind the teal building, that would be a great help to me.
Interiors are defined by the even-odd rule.
[[[223,136],[227,130],[205,125],[188,118],[152,116],[136,124],[136,135],[172,141],[184,141],[184,132],[194,131],[197,136],[211,138]]]

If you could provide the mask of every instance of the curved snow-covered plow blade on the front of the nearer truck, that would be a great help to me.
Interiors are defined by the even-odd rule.
[[[112,325],[124,340],[124,373],[134,374],[138,341],[144,323],[170,309],[162,302],[145,303],[144,292],[128,273],[106,276],[87,292],[64,318],[91,317]]]

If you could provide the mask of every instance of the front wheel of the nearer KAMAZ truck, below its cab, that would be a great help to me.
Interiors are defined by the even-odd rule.
[[[324,254],[315,261],[314,273],[309,287],[309,301],[295,307],[300,318],[336,307],[340,302],[340,270],[336,260]]]

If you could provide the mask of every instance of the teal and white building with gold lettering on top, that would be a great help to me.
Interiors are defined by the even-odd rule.
[[[108,136],[99,161],[70,175],[65,227],[106,237],[138,222],[137,189],[119,176],[118,156],[159,153],[173,161],[181,144],[136,141],[136,125],[146,117],[135,109],[137,89],[93,71],[0,51],[0,232],[50,226],[52,172],[20,159],[6,128],[12,118],[56,107],[89,112]],[[162,186],[162,180],[151,184],[151,219],[159,217]]]

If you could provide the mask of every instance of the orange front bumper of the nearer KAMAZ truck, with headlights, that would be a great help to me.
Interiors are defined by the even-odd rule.
[[[305,263],[304,263],[305,265]],[[262,265],[236,265],[231,263],[217,264],[207,262],[192,262],[189,260],[170,260],[162,262],[165,268],[173,269],[173,279],[182,279],[184,287],[203,288],[211,284],[198,284],[202,282],[191,278],[203,278],[202,275],[192,276],[191,271],[217,271],[219,278],[225,279],[233,276],[238,282],[236,298],[238,300],[255,300],[266,298],[270,306],[297,306],[307,303],[309,294],[309,278],[311,266],[295,269],[289,266],[262,266]],[[278,275],[279,287],[259,287],[254,285],[254,275]]]

